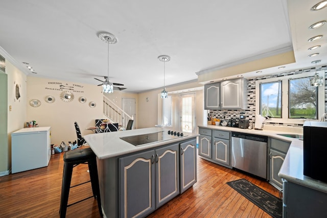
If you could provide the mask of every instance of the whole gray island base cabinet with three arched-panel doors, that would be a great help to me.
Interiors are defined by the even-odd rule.
[[[106,215],[145,217],[197,182],[196,138],[120,157],[118,164],[119,212]]]

